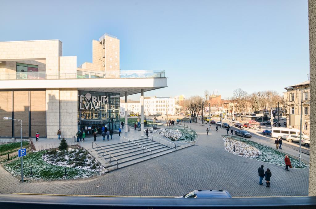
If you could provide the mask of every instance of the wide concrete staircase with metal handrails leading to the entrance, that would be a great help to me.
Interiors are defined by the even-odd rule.
[[[126,141],[117,144],[94,147],[93,149],[99,155],[103,156],[103,158],[109,163],[109,165],[105,166],[108,170],[115,170],[117,169],[117,166],[118,168],[123,168],[175,151],[174,146],[168,147],[149,138],[133,141],[138,145],[133,142]],[[118,159],[118,164],[117,160],[115,160],[109,154]]]

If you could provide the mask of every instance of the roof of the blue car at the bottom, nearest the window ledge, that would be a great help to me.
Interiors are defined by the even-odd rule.
[[[231,198],[232,196],[228,193],[228,191],[223,190],[194,190],[188,194],[180,196],[178,198]]]

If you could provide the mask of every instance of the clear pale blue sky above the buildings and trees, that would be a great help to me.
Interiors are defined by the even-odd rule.
[[[166,70],[168,87],[145,96],[282,93],[309,73],[307,0],[2,0],[1,8],[0,41],[60,39],[78,66],[92,62],[92,39],[116,35],[122,70]]]

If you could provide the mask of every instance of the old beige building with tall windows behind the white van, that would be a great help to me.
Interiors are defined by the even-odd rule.
[[[289,89],[284,92],[284,103],[286,106],[285,114],[287,118],[288,128],[300,129],[301,123],[301,94],[303,93],[303,117],[302,117],[302,132],[309,135],[310,129],[310,90],[309,81],[290,86],[294,89]],[[299,89],[299,90],[296,90]]]

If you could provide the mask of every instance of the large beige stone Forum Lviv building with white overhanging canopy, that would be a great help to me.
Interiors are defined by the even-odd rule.
[[[92,63],[77,67],[60,40],[0,42],[0,137],[71,138],[119,128],[120,97],[167,87],[164,71],[120,70],[119,39],[92,40]],[[126,130],[127,131],[127,130]]]

